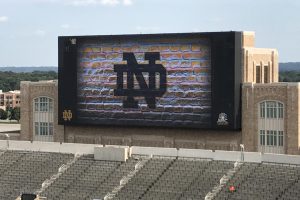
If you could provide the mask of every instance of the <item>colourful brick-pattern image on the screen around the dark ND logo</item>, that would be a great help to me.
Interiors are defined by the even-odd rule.
[[[117,65],[126,66],[124,53],[133,53],[138,64],[147,68],[145,53],[159,54],[155,64],[166,71],[166,90],[156,96],[154,107],[145,97],[134,96],[137,107],[124,106],[127,96],[116,95]],[[211,121],[211,64],[208,39],[140,40],[84,42],[79,46],[78,57],[78,119],[92,124],[179,126],[209,128]],[[131,66],[133,69],[135,66]],[[127,73],[120,80],[127,85]],[[143,72],[151,94],[149,73]],[[160,87],[156,73],[156,88]],[[133,74],[133,89],[141,89]],[[120,77],[119,77],[120,78]]]

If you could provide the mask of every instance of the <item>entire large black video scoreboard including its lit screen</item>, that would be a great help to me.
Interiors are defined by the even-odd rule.
[[[59,37],[59,124],[239,130],[241,38]]]

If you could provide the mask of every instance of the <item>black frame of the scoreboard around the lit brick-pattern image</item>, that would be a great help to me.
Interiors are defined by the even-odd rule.
[[[241,49],[242,32],[171,33],[144,35],[60,36],[58,37],[58,124],[95,125],[77,120],[78,44],[85,41],[126,41],[136,39],[197,39],[207,38],[211,44],[211,127],[216,130],[241,129]],[[71,111],[72,119],[63,118]],[[228,124],[217,123],[226,113]],[[99,124],[104,125],[104,124]],[[107,125],[107,124],[106,124]],[[113,122],[109,125],[118,125]],[[139,126],[138,124],[135,126]],[[145,124],[143,124],[145,126]],[[147,125],[146,125],[147,126]],[[153,124],[149,125],[153,126]],[[176,127],[184,127],[178,125]],[[176,128],[175,127],[175,128]]]

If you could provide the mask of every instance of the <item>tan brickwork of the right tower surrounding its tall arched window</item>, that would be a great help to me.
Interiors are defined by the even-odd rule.
[[[284,104],[285,153],[299,154],[299,88],[298,83],[243,84],[242,143],[246,151],[258,150],[259,103],[274,100]]]

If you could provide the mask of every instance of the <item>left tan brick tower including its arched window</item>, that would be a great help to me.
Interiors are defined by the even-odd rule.
[[[21,140],[63,141],[57,86],[57,81],[21,82]]]

